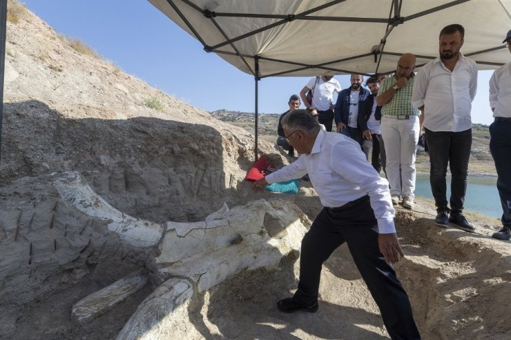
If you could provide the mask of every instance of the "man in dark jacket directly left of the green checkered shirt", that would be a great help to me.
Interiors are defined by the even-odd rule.
[[[376,104],[376,95],[380,89],[378,77],[372,76],[367,79],[365,85],[372,94],[360,104],[358,112],[358,127],[362,132],[362,151],[369,160],[372,151],[371,164],[378,173],[383,168],[385,172],[385,148],[381,137],[381,106]]]

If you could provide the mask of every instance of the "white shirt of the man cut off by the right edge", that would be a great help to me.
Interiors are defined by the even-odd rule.
[[[511,118],[511,63],[497,68],[490,79],[490,107],[493,117]]]

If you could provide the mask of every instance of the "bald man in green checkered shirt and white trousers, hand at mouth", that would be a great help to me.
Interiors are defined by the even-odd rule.
[[[414,208],[415,152],[421,111],[412,106],[414,54],[403,54],[396,73],[382,81],[376,102],[381,108],[381,137],[387,154],[387,179],[392,203]]]

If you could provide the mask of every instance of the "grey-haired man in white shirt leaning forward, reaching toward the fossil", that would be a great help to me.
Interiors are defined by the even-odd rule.
[[[302,239],[298,290],[292,298],[278,301],[278,309],[316,312],[322,263],[346,242],[390,337],[420,339],[409,299],[392,267],[404,255],[387,180],[367,162],[356,141],[322,131],[307,110],[290,112],[282,126],[300,157],[253,183],[253,189],[308,172],[325,208]]]

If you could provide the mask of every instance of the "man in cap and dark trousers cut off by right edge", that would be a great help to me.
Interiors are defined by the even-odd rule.
[[[503,43],[511,52],[511,30]],[[490,152],[495,161],[499,178],[496,188],[499,190],[502,204],[502,226],[492,237],[503,241],[510,240],[511,234],[511,62],[497,68],[490,79],[490,107],[494,122],[490,125]]]

